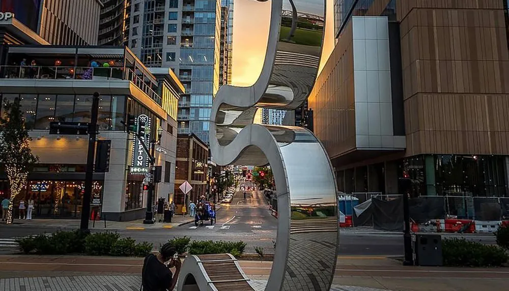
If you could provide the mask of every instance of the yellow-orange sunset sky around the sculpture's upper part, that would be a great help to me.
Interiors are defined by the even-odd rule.
[[[309,9],[310,13],[320,13],[314,6],[316,0],[295,0],[296,3],[301,1],[305,6],[300,5],[300,8]],[[289,6],[288,0],[284,0],[283,9],[288,9]],[[262,71],[267,48],[270,10],[270,1],[260,3],[255,0],[235,0],[232,69],[232,85],[234,86],[252,85]],[[325,43],[320,70],[334,48],[332,16],[333,0],[327,0]]]

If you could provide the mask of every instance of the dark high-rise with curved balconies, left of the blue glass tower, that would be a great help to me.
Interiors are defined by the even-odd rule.
[[[126,10],[130,9],[131,0],[101,0],[101,2],[103,7],[99,20],[98,44],[104,46],[124,45],[124,29],[128,20]]]

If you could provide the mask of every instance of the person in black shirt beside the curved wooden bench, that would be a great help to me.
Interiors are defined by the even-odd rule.
[[[161,247],[157,255],[145,257],[142,269],[143,291],[173,290],[177,285],[182,262],[178,258],[177,249],[171,243]],[[175,274],[170,268],[175,267]]]

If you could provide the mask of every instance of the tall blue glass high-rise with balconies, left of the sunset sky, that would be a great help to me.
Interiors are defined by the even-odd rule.
[[[178,132],[207,143],[219,88],[220,15],[219,0],[131,0],[126,22],[131,50],[148,67],[171,68],[186,89]]]

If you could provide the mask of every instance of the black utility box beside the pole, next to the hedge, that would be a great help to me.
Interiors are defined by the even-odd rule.
[[[443,266],[442,236],[415,235],[415,265]]]

